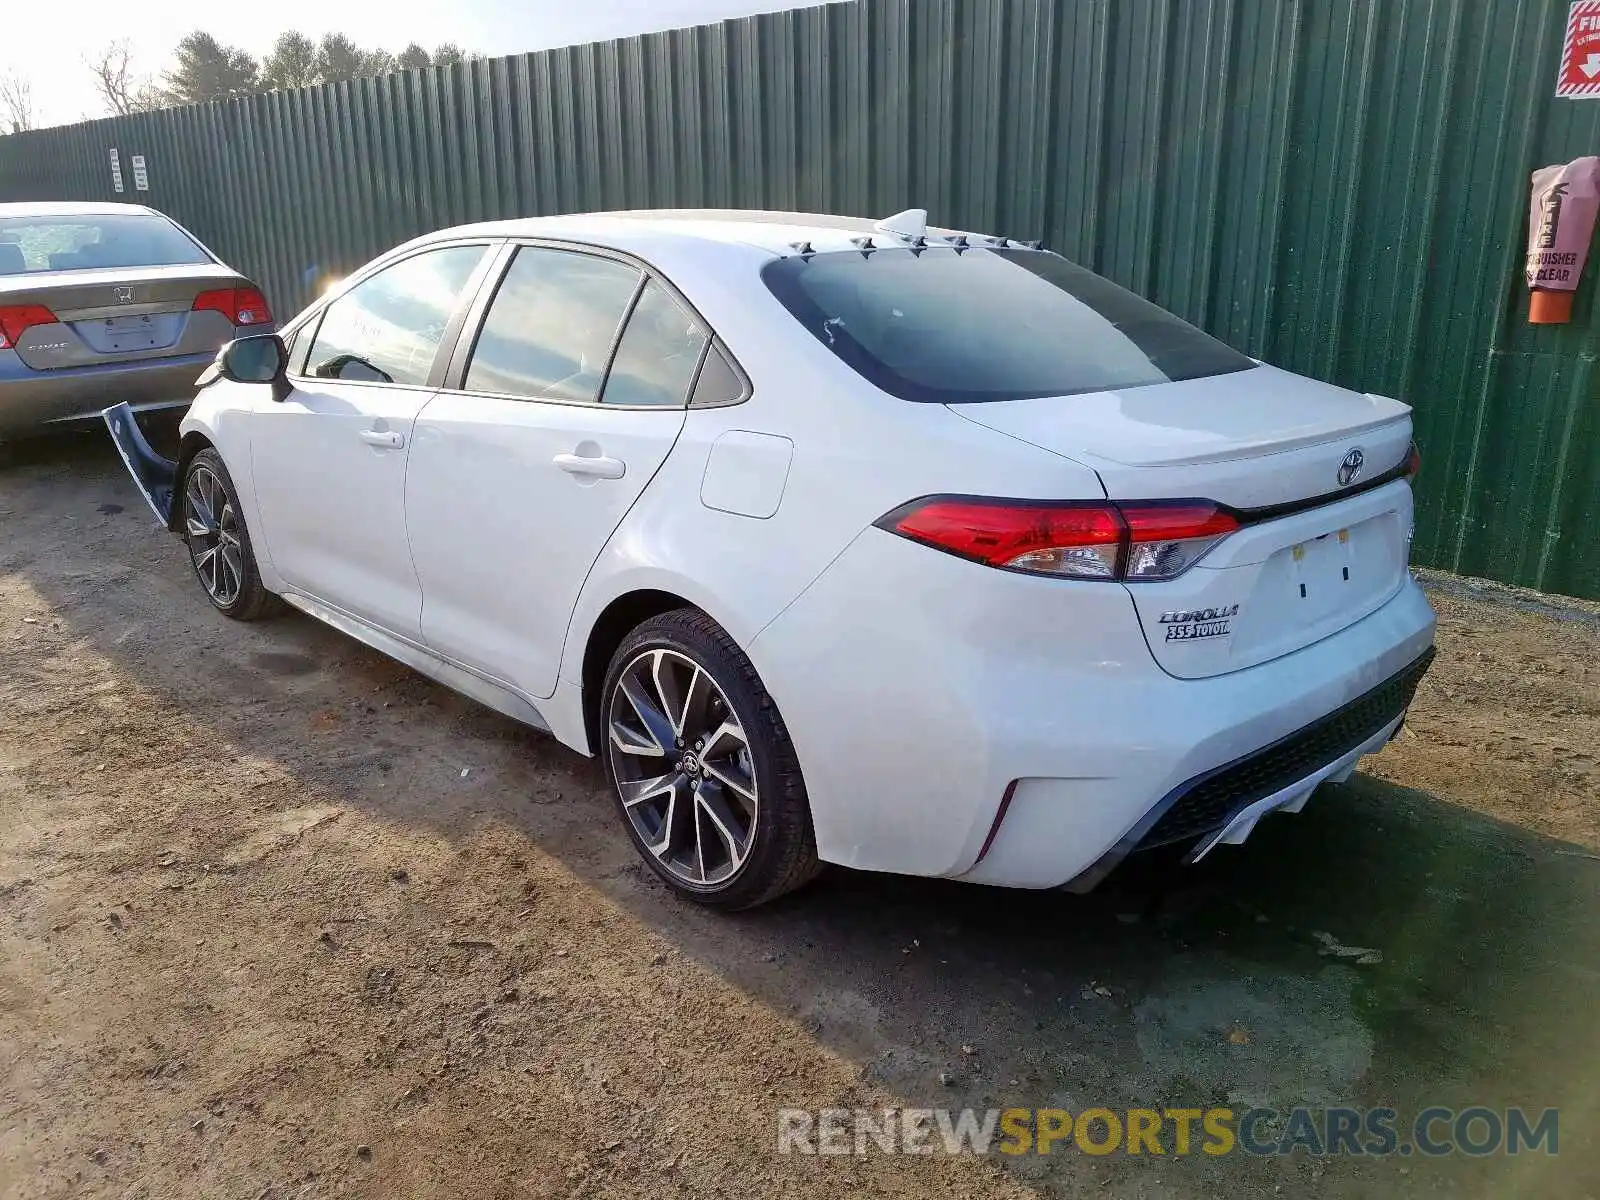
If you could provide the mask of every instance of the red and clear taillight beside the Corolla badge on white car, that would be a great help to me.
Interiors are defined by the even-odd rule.
[[[878,526],[1011,571],[1067,579],[1171,579],[1238,528],[1211,501],[1011,501],[930,496]]]

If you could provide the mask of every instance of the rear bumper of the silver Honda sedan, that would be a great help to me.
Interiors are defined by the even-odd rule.
[[[99,421],[104,408],[182,408],[194,400],[195,379],[216,350],[171,358],[139,358],[106,366],[34,371],[0,350],[0,438],[38,434],[48,426]]]

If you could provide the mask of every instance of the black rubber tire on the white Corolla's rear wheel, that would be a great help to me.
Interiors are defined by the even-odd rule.
[[[755,806],[755,816],[747,826],[749,850],[742,859],[742,866],[738,866],[728,878],[710,883],[685,878],[664,862],[662,858],[658,858],[635,826],[635,816],[630,814],[624,802],[622,784],[618,776],[618,760],[621,758],[626,765],[627,754],[619,754],[611,739],[613,701],[619,704],[626,702],[626,696],[618,691],[624,672],[638,667],[643,656],[658,650],[678,656],[670,659],[674,662],[688,659],[707,672],[715,685],[715,691],[720,693],[720,696],[710,698],[710,710],[720,712],[722,723],[726,723],[728,714],[725,709],[731,709],[731,715],[736,718],[738,726],[741,726],[744,746],[747,747],[746,757],[739,758],[739,762],[747,763],[747,774],[754,781],[755,797],[758,797],[758,800],[750,802]],[[693,690],[690,688],[690,691]],[[685,701],[685,712],[688,707],[690,702]],[[750,909],[757,904],[766,904],[787,891],[794,891],[818,874],[821,864],[816,858],[811,806],[806,800],[805,779],[800,776],[800,762],[795,757],[794,742],[789,739],[789,730],[784,726],[784,718],[778,712],[773,698],[762,686],[762,680],[755,674],[750,659],[746,658],[744,651],[739,650],[722,626],[709,616],[694,608],[678,608],[645,621],[629,634],[611,656],[605,686],[600,693],[598,712],[600,720],[597,722],[597,728],[600,744],[597,746],[597,752],[605,762],[606,779],[611,782],[622,827],[632,838],[640,858],[680,896],[718,909]],[[712,720],[717,722],[718,718]],[[666,754],[670,757],[674,749],[667,747]],[[688,757],[693,758],[693,747],[690,747]],[[706,763],[694,768],[696,771],[704,771],[704,774],[696,774],[694,782],[706,784],[707,797],[712,795],[712,789],[720,789],[718,781],[723,778],[722,774],[714,774],[710,763],[710,747],[707,747]],[[670,762],[664,766],[669,771],[674,770]],[[685,779],[688,778],[682,768],[677,770],[677,774]],[[698,795],[699,789],[696,787],[694,797]],[[725,795],[738,798],[733,792],[725,792]],[[691,818],[699,821],[701,808],[698,806],[698,800],[691,800],[690,803]],[[746,813],[741,811],[739,816],[744,818]],[[699,826],[694,829],[698,834]],[[670,835],[664,840],[670,842]],[[717,845],[717,838],[707,838],[707,842],[714,846]],[[701,874],[706,874],[704,861],[701,862]]]

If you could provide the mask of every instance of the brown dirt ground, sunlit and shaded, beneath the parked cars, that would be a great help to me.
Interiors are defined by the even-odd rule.
[[[102,440],[29,448],[0,1197],[1597,1195],[1600,608],[1427,582],[1408,731],[1243,848],[725,917],[635,861],[595,763],[222,619]],[[1219,1102],[1558,1106],[1560,1154],[776,1152],[781,1107]]]

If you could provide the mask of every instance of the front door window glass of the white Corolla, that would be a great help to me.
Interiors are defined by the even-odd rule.
[[[443,246],[384,267],[328,306],[306,373],[426,384],[483,246]]]

